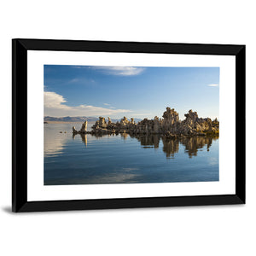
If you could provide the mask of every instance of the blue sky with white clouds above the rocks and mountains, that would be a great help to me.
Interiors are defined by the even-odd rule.
[[[44,65],[44,116],[162,116],[175,108],[218,118],[218,67]]]

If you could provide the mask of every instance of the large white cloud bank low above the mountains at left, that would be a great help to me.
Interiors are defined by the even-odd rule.
[[[54,91],[44,91],[44,116],[101,116],[130,113],[129,109],[101,108],[90,105],[67,106],[66,99]]]

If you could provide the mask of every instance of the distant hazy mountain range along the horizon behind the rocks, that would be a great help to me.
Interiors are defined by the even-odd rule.
[[[98,118],[96,117],[87,117],[87,116],[65,116],[65,117],[60,117],[60,118],[56,118],[56,117],[52,117],[52,116],[45,116],[44,117],[44,122],[49,122],[49,121],[55,121],[55,122],[77,122],[77,123],[82,123],[85,120],[87,120],[88,122],[96,122],[96,120],[98,120]],[[117,121],[120,121],[120,119],[111,119],[112,122],[116,123]],[[135,122],[139,122],[142,119],[134,119]],[[108,121],[108,119],[106,119],[106,121]]]

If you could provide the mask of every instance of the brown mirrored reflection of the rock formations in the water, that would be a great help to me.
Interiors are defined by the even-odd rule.
[[[91,137],[112,137],[118,135],[91,135]],[[160,143],[163,144],[163,152],[166,153],[166,158],[174,158],[175,154],[179,150],[184,150],[189,158],[197,156],[198,151],[206,147],[207,151],[210,150],[212,146],[212,141],[218,140],[218,137],[180,137],[180,138],[166,138],[161,137],[159,134],[152,135],[129,135],[127,133],[121,133],[120,136],[126,140],[128,137],[136,138],[138,142],[141,143],[142,148],[159,148]],[[73,135],[73,138],[75,135]],[[82,142],[87,146],[87,135],[80,134]],[[182,145],[182,147],[181,147]]]

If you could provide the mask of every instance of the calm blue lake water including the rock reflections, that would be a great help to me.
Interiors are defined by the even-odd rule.
[[[218,138],[73,137],[72,126],[44,125],[44,185],[218,181]]]

